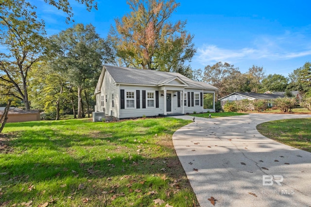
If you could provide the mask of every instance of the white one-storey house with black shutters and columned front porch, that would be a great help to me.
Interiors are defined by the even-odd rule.
[[[178,73],[104,65],[95,111],[108,119],[215,111],[215,104],[204,109],[203,97],[212,94],[215,100],[216,93],[216,87]]]

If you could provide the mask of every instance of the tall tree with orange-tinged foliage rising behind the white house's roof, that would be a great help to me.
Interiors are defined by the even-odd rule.
[[[167,72],[189,70],[185,65],[196,49],[186,22],[169,21],[179,3],[174,0],[128,0],[131,12],[115,19],[109,40],[116,48],[116,63]],[[191,74],[192,71],[185,74]]]

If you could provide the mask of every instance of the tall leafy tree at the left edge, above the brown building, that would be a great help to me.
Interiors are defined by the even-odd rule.
[[[24,0],[5,1],[0,10],[0,79],[7,87],[14,87],[10,95],[22,100],[30,109],[28,100],[28,72],[38,62],[45,49],[44,24],[36,20],[35,7]]]

